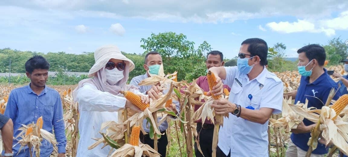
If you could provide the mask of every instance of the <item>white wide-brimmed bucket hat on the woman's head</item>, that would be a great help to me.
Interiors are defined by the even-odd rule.
[[[134,69],[134,63],[131,60],[129,60],[126,56],[122,55],[121,51],[118,49],[116,45],[105,45],[95,50],[95,63],[92,66],[92,68],[90,68],[88,72],[88,77],[93,77],[95,75],[95,72],[102,69],[111,58],[124,60],[126,63],[126,69],[129,69],[129,72]]]

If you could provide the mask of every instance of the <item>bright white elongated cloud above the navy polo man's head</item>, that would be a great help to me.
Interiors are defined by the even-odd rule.
[[[307,20],[298,19],[297,22],[270,22],[267,23],[272,31],[280,33],[295,33],[295,32],[310,32],[310,33],[325,33],[326,36],[335,35],[335,30],[330,28],[317,28],[316,25]]]

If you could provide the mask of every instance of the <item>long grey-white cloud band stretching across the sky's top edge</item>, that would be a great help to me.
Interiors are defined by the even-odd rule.
[[[313,5],[313,3],[316,5]],[[152,0],[149,3],[143,0],[16,0],[1,1],[0,6],[16,6],[44,11],[60,10],[66,13],[83,10],[82,12],[87,12],[87,14],[92,11],[119,17],[217,23],[270,16],[322,19],[323,17],[330,17],[333,12],[345,11],[348,8],[348,1],[225,0],[216,3],[209,0]]]

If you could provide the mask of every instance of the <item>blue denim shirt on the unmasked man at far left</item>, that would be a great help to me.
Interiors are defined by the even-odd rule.
[[[22,127],[21,124],[29,125],[36,123],[37,119],[42,116],[44,124],[42,129],[53,133],[58,142],[58,153],[65,153],[66,137],[65,126],[63,120],[63,106],[60,94],[52,88],[45,87],[45,89],[37,95],[28,86],[19,87],[13,89],[9,95],[6,110],[4,115],[10,117],[14,126],[14,137],[16,137],[21,131],[18,128]],[[25,150],[20,151],[21,145],[18,140],[22,139],[18,137],[13,140],[14,156],[27,157],[29,156],[29,148],[23,147]],[[17,144],[18,143],[18,144]],[[49,157],[53,151],[53,145],[46,140],[41,142],[40,156]],[[33,153],[35,156],[35,153]]]

